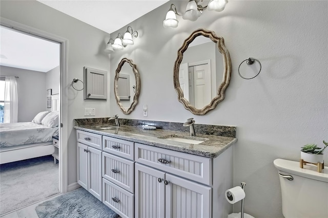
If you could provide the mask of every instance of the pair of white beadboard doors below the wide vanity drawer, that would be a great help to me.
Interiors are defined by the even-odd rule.
[[[135,175],[135,217],[211,217],[211,187],[138,163]]]

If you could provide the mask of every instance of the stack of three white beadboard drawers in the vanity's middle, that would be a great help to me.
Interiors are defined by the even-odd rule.
[[[134,216],[134,142],[103,136],[103,203]]]

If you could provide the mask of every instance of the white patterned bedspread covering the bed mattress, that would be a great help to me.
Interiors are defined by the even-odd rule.
[[[58,127],[33,122],[0,123],[0,148],[52,141]]]

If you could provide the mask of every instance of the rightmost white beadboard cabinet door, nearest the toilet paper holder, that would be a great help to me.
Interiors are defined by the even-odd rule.
[[[166,173],[166,217],[211,217],[211,187]]]

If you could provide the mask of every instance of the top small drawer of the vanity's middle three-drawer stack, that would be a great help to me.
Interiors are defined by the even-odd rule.
[[[103,150],[129,160],[134,160],[134,142],[103,136]]]

